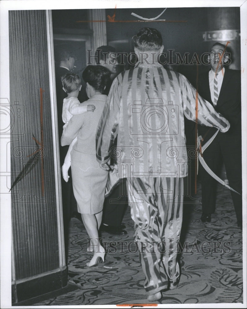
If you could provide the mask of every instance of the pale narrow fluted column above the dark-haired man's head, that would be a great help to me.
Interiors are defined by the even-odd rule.
[[[102,45],[106,45],[106,12],[105,9],[89,10],[90,28],[93,30],[93,51]]]

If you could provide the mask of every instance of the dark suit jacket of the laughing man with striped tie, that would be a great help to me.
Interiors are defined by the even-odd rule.
[[[214,106],[211,100],[208,71],[198,78],[198,93]],[[219,93],[219,99],[214,107],[229,122],[230,129],[226,133],[229,137],[241,134],[241,75],[238,70],[225,69],[223,83]],[[198,125],[198,135],[204,136],[209,128]],[[210,129],[206,140],[213,135],[215,129]],[[220,132],[219,132],[220,133]]]

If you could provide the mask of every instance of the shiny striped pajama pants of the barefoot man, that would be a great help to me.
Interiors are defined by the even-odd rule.
[[[177,242],[183,217],[183,178],[128,178],[128,201],[134,221],[148,294],[176,285],[180,270]]]

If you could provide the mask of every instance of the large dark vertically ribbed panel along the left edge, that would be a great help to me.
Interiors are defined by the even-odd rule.
[[[15,279],[59,268],[45,11],[10,11]]]

